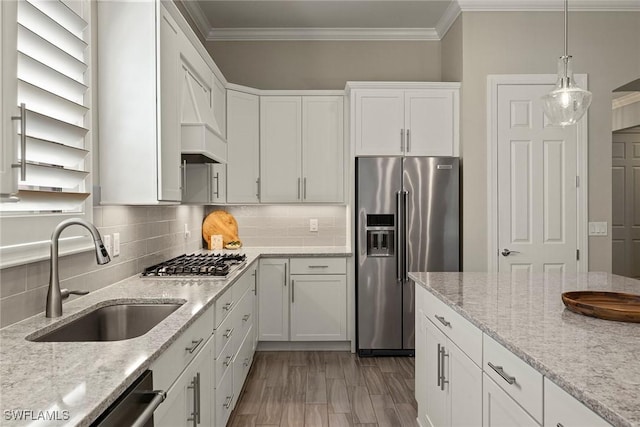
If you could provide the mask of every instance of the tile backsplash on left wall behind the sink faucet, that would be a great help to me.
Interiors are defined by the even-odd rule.
[[[61,257],[60,286],[94,291],[197,250],[202,247],[202,219],[201,206],[95,207],[93,223],[100,233],[120,233],[120,256],[102,266],[96,264],[93,251]],[[48,284],[49,260],[0,270],[0,327],[43,312]]]

